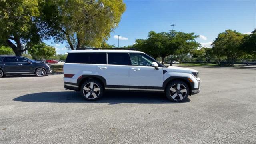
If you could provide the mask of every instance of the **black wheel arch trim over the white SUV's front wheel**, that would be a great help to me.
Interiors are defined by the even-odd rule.
[[[191,95],[191,92],[192,92],[192,88],[194,87],[194,83],[193,82],[190,82],[188,80],[188,77],[179,77],[179,76],[172,76],[172,77],[169,77],[167,78],[164,83],[163,83],[163,88],[164,90],[166,89],[166,86],[168,86],[168,84],[170,84],[171,82],[175,81],[175,80],[180,80],[182,82],[185,82],[186,84],[188,84],[189,86],[189,95]]]

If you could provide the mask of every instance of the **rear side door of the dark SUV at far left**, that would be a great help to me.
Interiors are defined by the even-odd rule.
[[[18,60],[15,56],[5,56],[1,64],[4,69],[4,73],[19,73]]]

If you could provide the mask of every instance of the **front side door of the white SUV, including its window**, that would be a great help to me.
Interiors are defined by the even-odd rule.
[[[152,58],[142,53],[130,53],[130,90],[159,89],[163,85],[163,69],[151,67]]]

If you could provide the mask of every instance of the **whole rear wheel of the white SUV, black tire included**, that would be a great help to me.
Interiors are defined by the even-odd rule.
[[[91,88],[91,83],[93,83]],[[86,80],[80,87],[81,96],[89,101],[95,101],[101,98],[104,94],[104,86],[101,82],[94,79]],[[97,90],[96,90],[97,89]]]

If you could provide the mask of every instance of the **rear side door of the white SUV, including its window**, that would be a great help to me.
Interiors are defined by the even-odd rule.
[[[100,64],[97,74],[106,79],[106,89],[129,90],[130,58],[128,53],[107,53],[108,64]]]

